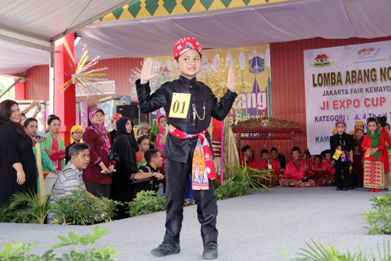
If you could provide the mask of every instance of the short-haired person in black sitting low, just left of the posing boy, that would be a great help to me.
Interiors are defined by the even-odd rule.
[[[134,184],[136,193],[140,191],[159,191],[160,184],[164,181],[165,173],[161,172],[159,168],[163,165],[163,159],[159,149],[149,149],[144,152],[144,158],[147,164],[139,168],[139,172],[134,175],[135,180],[151,179],[148,182],[141,182]],[[156,179],[154,179],[156,178]]]

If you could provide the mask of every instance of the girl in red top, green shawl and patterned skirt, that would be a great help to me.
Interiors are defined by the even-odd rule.
[[[380,192],[379,188],[385,188],[384,158],[382,150],[385,148],[385,138],[378,130],[377,118],[369,118],[367,122],[367,134],[364,136],[364,188],[370,188],[369,192]]]

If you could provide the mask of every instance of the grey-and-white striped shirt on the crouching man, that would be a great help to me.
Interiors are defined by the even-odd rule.
[[[76,169],[70,161],[65,165],[64,169],[58,174],[58,178],[54,183],[52,191],[52,196],[50,196],[50,203],[53,203],[65,196],[66,194],[72,193],[77,189],[82,189],[83,191],[87,191],[85,188],[85,184],[82,181],[82,171]],[[50,211],[48,213],[48,224],[53,222],[53,214],[54,211]]]

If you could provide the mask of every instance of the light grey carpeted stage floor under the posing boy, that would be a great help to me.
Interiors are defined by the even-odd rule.
[[[341,250],[377,250],[388,235],[367,235],[363,217],[370,211],[368,199],[374,194],[368,189],[336,191],[335,187],[273,188],[272,193],[252,193],[249,196],[218,201],[219,260],[283,260],[281,250],[293,258],[304,240],[332,243]],[[165,213],[153,213],[102,224],[111,234],[97,247],[112,246],[118,260],[202,260],[200,224],[196,206],[184,209],[181,233],[181,253],[154,257],[151,248],[161,243]],[[40,242],[34,252],[60,241],[57,235],[92,233],[95,226],[27,225],[0,223],[0,242]]]

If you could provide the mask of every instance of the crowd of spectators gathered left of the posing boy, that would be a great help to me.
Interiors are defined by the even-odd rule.
[[[105,196],[126,203],[132,201],[136,192],[162,188],[163,159],[160,150],[150,149],[154,144],[149,139],[148,124],[139,125],[137,143],[132,119],[113,114],[114,129],[108,132],[105,112],[95,107],[89,114],[91,126],[87,129],[73,126],[71,144],[65,148],[58,135],[61,119],[49,115],[46,132],[38,132],[35,117],[41,105],[34,101],[24,112],[33,107],[37,107],[36,112],[26,119],[15,101],[0,103],[0,205],[9,203],[16,192],[45,195],[43,172],[58,175],[53,186],[55,193],[50,198],[52,203],[75,189],[86,191],[92,198]],[[160,120],[159,127],[165,125]],[[159,132],[162,150],[165,137],[161,134],[164,132]],[[129,217],[122,206],[117,215]],[[51,221],[53,213],[48,215],[48,222]]]

